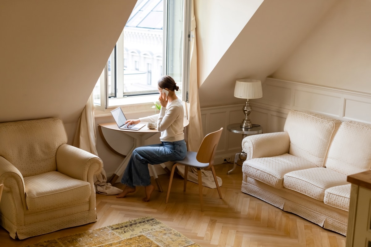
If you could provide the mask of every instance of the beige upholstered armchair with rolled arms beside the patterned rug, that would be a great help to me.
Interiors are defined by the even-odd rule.
[[[66,143],[61,119],[0,123],[0,224],[12,238],[96,221],[102,160]]]

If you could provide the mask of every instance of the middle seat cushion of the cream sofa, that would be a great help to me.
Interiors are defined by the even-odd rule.
[[[344,184],[348,184],[346,175],[324,167],[291,171],[283,176],[284,187],[320,201],[327,188]]]

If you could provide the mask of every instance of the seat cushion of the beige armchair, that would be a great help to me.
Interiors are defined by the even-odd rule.
[[[58,171],[24,178],[26,204],[30,211],[52,210],[89,202],[90,183]]]

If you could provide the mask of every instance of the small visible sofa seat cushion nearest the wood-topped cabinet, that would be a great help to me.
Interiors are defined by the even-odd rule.
[[[326,189],[324,203],[348,211],[351,186],[349,183]]]

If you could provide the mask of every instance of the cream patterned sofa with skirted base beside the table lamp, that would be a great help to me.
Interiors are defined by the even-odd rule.
[[[290,110],[283,132],[247,136],[242,192],[342,235],[351,184],[371,168],[371,125]]]

